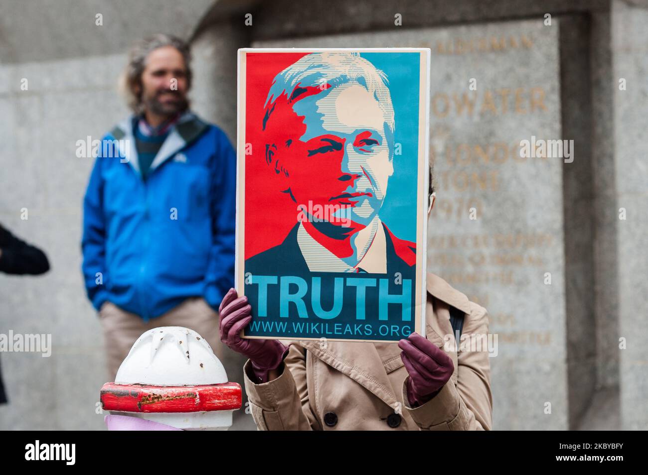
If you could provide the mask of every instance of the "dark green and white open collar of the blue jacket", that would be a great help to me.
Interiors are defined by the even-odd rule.
[[[122,151],[123,157],[128,161],[128,163],[130,163],[133,170],[138,174],[141,174],[139,170],[139,159],[137,157],[137,147],[135,146],[135,135],[133,133],[133,127],[137,127],[137,119],[137,116],[132,115],[122,120],[122,122],[119,122],[119,124],[113,128],[111,135],[117,140],[125,140],[126,147]],[[151,164],[150,170],[155,170],[166,160],[170,159],[170,157],[173,157],[178,153],[178,151],[191,144],[191,142],[202,135],[207,127],[209,126],[191,111],[183,113],[183,115],[178,119],[178,122],[169,132],[167,139],[164,141],[159,151],[157,151],[157,155]]]

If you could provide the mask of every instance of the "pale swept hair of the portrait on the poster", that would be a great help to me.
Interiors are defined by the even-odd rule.
[[[328,85],[329,87],[321,89],[323,92],[350,82],[362,85],[378,102],[378,107],[385,117],[389,159],[392,159],[395,124],[387,76],[356,52],[310,53],[279,72],[272,82],[263,106],[263,129],[266,129],[266,122],[272,115],[279,97],[286,95],[288,104],[292,104],[299,100],[299,96],[307,92],[308,88]]]

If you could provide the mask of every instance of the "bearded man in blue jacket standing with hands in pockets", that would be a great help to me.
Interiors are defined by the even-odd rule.
[[[217,351],[233,283],[236,155],[189,109],[189,45],[137,42],[122,85],[133,115],[102,141],[84,199],[87,296],[100,315],[109,381],[147,329],[189,327]]]

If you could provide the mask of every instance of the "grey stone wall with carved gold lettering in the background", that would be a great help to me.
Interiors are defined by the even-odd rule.
[[[106,379],[102,334],[80,274],[91,160],[77,158],[75,144],[127,113],[116,93],[124,48],[156,29],[191,39],[192,105],[232,141],[239,47],[431,47],[438,201],[428,266],[491,311],[500,335],[495,428],[648,428],[647,2],[415,0],[395,8],[329,0],[297,9],[288,0],[201,1],[182,12],[159,8],[144,29],[130,3],[117,2],[100,32],[84,26],[101,12],[94,0],[76,10],[43,5],[0,6],[8,34],[0,44],[0,221],[43,247],[52,270],[0,275],[0,322],[51,333],[54,348],[50,358],[0,355],[11,400],[0,406],[0,428],[103,426],[95,414]],[[143,2],[137,8],[146,11]],[[480,50],[480,41],[490,47]],[[472,93],[469,113],[464,94],[470,102]],[[574,161],[516,159],[515,144],[531,135],[573,139]],[[470,207],[478,219],[467,217]],[[240,370],[237,355],[222,358],[228,374]]]

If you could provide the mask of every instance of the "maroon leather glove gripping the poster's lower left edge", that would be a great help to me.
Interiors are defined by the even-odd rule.
[[[279,368],[288,347],[279,340],[241,338],[240,331],[252,320],[251,310],[246,296],[239,297],[236,289],[229,289],[218,307],[220,341],[249,358],[257,383],[267,382],[268,373]]]

